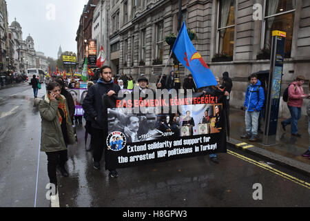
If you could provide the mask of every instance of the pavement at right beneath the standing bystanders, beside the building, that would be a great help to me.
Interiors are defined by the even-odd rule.
[[[262,134],[258,134],[257,142],[249,142],[247,139],[241,139],[240,135],[245,133],[245,111],[230,109],[230,146],[242,148],[244,151],[260,155],[271,162],[277,162],[289,166],[305,173],[310,173],[310,160],[308,157],[302,157],[309,146],[308,119],[302,117],[298,121],[298,133],[300,138],[291,136],[291,127],[287,126],[287,131],[283,131],[278,119],[278,128],[276,135],[276,144],[272,146],[262,145]],[[245,143],[245,144],[242,144]]]

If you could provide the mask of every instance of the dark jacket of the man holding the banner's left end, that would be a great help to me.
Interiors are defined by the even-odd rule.
[[[114,84],[113,81],[110,81],[110,83],[104,83],[102,79],[100,79],[88,89],[87,95],[83,100],[83,109],[87,114],[88,120],[92,122],[93,128],[106,128],[106,108],[109,107],[110,104],[105,102],[105,95],[107,95],[110,90],[114,90],[117,96],[118,91],[121,90],[121,88],[117,84]],[[96,120],[95,117],[97,117]]]

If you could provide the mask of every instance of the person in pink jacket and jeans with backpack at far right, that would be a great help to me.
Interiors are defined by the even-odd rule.
[[[296,77],[296,81],[289,84],[289,99],[287,101],[287,107],[291,113],[291,118],[281,122],[282,128],[286,131],[285,126],[291,124],[291,135],[295,137],[301,137],[298,133],[298,120],[301,117],[301,107],[303,99],[310,96],[304,94],[302,89],[302,84],[304,84],[304,76]]]

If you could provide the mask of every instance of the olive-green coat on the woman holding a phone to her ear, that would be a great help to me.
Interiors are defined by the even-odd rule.
[[[65,97],[61,95],[63,99]],[[68,110],[68,104],[65,100],[65,106]],[[61,124],[57,116],[58,101],[50,102],[50,99],[45,95],[45,99],[39,102],[39,112],[41,115],[41,151],[56,152],[67,149],[65,140],[63,139],[63,132],[61,131]],[[69,144],[75,144],[75,136],[72,128],[72,122],[68,116],[67,134]]]

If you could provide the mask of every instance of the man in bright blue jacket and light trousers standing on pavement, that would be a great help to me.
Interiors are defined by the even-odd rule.
[[[256,74],[250,76],[251,84],[245,93],[245,130],[241,138],[256,141],[258,135],[258,117],[265,102],[264,89]]]

